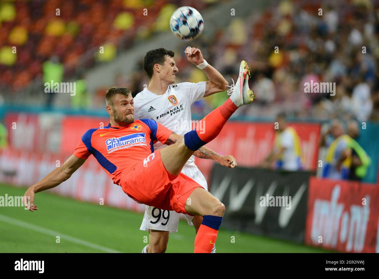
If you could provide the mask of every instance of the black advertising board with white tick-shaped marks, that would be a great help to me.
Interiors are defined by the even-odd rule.
[[[222,227],[304,243],[311,175],[215,165],[211,193],[226,206]]]

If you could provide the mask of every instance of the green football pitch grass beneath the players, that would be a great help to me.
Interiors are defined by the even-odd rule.
[[[0,184],[0,196],[23,196],[26,189]],[[148,240],[149,234],[139,230],[143,213],[80,202],[48,192],[37,193],[35,204],[38,210],[33,213],[23,207],[0,207],[0,252],[140,253]],[[56,241],[58,236],[60,243]],[[178,232],[170,234],[166,252],[192,253],[194,238],[194,228],[180,220]],[[216,252],[327,251],[225,230],[221,225]]]

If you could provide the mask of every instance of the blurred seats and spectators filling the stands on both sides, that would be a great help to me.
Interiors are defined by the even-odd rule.
[[[117,53],[130,48],[135,41],[168,31],[168,18],[178,6],[203,10],[214,2],[219,1],[2,3],[0,87],[3,92],[17,94],[35,78],[61,82],[76,77],[83,84],[72,106],[103,107],[103,102],[96,102],[94,97],[102,100],[107,88],[86,92],[82,79],[86,69],[115,60]],[[230,84],[236,77],[239,61],[250,63],[251,87],[257,97],[240,114],[269,118],[285,111],[298,119],[338,117],[378,121],[378,3],[377,0],[282,0],[262,12],[252,9],[248,18],[237,15],[227,28],[218,29],[211,36],[200,36],[194,42],[183,42],[181,48],[174,49],[180,71],[177,82],[206,80],[202,71],[184,59],[182,49],[192,45],[202,50],[207,61]],[[56,17],[56,7],[61,7],[60,17]],[[149,17],[139,16],[144,7],[149,9]],[[106,55],[98,55],[98,46],[104,42]],[[12,53],[13,45],[17,47],[16,55]],[[335,96],[305,93],[304,83],[311,80],[335,82]],[[120,72],[114,78],[115,86],[126,86],[134,94],[147,83],[141,61],[133,72],[127,75]],[[195,103],[193,112],[206,114],[226,97],[221,93],[201,100]]]

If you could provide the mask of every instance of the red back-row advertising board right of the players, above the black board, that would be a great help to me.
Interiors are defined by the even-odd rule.
[[[320,124],[288,125],[296,130],[301,139],[304,169],[315,170]],[[272,150],[275,132],[273,123],[227,122],[217,138],[206,146],[221,155],[233,155],[238,166],[257,166]],[[214,162],[196,158],[195,163],[208,180]]]

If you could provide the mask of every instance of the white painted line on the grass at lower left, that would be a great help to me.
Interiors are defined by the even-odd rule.
[[[79,238],[70,237],[69,235],[61,234],[60,232],[56,232],[54,230],[45,229],[43,227],[38,227],[38,226],[32,225],[30,223],[26,223],[26,222],[23,222],[23,221],[14,219],[14,218],[10,218],[10,217],[5,216],[5,215],[1,215],[0,214],[0,220],[4,221],[6,223],[9,223],[9,224],[15,225],[15,226],[27,228],[27,229],[30,229],[30,230],[34,230],[36,232],[41,232],[42,234],[51,235],[53,237],[57,237],[59,235],[64,240],[71,241],[71,242],[77,243],[79,245],[87,246],[89,248],[93,248],[93,249],[100,250],[100,251],[103,251],[103,252],[122,253],[122,252],[117,251],[117,250],[106,248],[106,247],[103,247],[103,246],[100,246],[100,245],[97,245],[97,244],[94,244],[94,243],[91,243],[91,242],[88,242],[88,241],[85,241],[85,240],[81,240]]]

